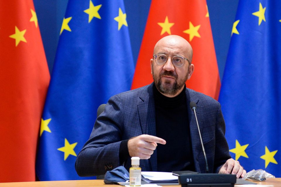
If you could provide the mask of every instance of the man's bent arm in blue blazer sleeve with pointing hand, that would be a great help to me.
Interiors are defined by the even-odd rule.
[[[124,115],[126,117],[128,115],[124,108],[126,107],[122,105],[119,96],[109,99],[104,112],[95,122],[89,140],[76,158],[75,169],[79,176],[105,174],[108,170],[122,165],[128,157],[138,156],[141,159],[148,159],[156,149],[157,143],[166,143],[156,136],[139,135],[141,130],[135,129],[136,126],[140,127],[138,124],[134,124],[133,127],[132,121],[123,121]],[[131,115],[135,116],[134,113]],[[133,133],[130,131],[131,128],[134,128]],[[130,137],[134,135],[136,137]],[[127,154],[120,153],[122,150]]]

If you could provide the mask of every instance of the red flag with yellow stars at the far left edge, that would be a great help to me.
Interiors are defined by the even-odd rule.
[[[0,1],[0,182],[35,181],[49,71],[32,0]]]

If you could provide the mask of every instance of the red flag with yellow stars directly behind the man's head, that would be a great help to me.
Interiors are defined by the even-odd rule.
[[[206,1],[152,0],[132,89],[153,81],[150,59],[154,46],[169,34],[185,38],[193,48],[194,72],[186,87],[218,99],[220,77]]]

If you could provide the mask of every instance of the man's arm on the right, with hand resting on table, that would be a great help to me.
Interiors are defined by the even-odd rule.
[[[235,174],[237,178],[243,177],[246,171],[239,161],[231,158],[229,147],[225,138],[225,120],[222,115],[221,105],[219,104],[216,118],[216,146],[214,169],[220,174]]]

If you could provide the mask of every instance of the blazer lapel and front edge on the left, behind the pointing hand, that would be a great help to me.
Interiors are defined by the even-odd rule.
[[[152,85],[147,89],[147,94],[140,96],[140,102],[138,104],[138,115],[140,118],[140,126],[142,134],[149,134],[156,136],[156,124],[155,124],[155,103],[152,91]],[[150,164],[152,171],[157,171],[157,149],[150,157]]]

